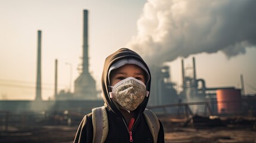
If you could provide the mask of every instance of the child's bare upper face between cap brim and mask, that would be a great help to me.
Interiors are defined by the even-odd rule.
[[[134,77],[145,83],[144,70],[141,69],[141,67],[134,64],[125,64],[125,66],[112,71],[110,75],[110,84],[111,86],[114,86],[116,83],[127,77]]]

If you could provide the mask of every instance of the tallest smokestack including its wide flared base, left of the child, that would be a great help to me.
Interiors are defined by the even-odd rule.
[[[96,82],[89,73],[88,62],[88,11],[84,10],[84,30],[83,30],[83,57],[82,73],[75,80],[74,96],[80,100],[94,100],[97,98]]]

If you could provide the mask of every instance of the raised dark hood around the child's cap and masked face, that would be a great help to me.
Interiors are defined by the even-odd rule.
[[[116,105],[112,98],[109,96],[110,88],[109,88],[109,69],[110,67],[115,64],[119,60],[128,59],[128,58],[134,58],[135,60],[141,61],[141,63],[146,67],[147,71],[149,72],[149,82],[146,85],[147,91],[150,91],[150,83],[151,83],[151,74],[149,71],[149,67],[147,67],[147,64],[144,62],[144,60],[138,55],[136,52],[132,51],[128,48],[121,48],[118,51],[114,52],[113,54],[109,55],[104,63],[103,67],[103,73],[101,76],[101,86],[103,90],[103,99],[105,102],[105,106],[113,111],[116,115],[121,116],[121,112],[116,108]],[[138,108],[135,110],[135,113],[142,113],[146,106],[147,102],[149,101],[149,97],[145,97],[144,101],[138,106]]]

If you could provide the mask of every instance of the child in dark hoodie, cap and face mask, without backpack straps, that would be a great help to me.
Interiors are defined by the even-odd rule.
[[[121,48],[106,58],[101,85],[108,131],[101,142],[164,142],[162,123],[157,120],[159,130],[154,136],[143,114],[150,82],[149,67],[136,52]],[[85,115],[74,142],[95,141],[92,116],[92,113]]]

